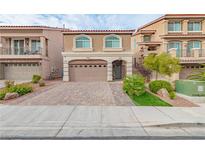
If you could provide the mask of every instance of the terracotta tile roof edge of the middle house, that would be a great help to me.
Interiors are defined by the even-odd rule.
[[[64,29],[63,33],[130,33],[132,34],[135,30],[70,30]]]

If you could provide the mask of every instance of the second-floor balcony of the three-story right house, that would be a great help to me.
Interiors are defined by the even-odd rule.
[[[205,49],[191,49],[191,50],[179,50],[172,48],[168,52],[173,57],[178,57],[180,63],[204,63],[205,62]]]

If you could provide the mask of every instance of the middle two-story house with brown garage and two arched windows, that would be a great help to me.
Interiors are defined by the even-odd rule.
[[[63,80],[112,81],[132,74],[134,30],[64,30]]]

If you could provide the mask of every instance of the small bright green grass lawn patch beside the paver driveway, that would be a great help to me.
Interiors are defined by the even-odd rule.
[[[140,96],[130,96],[130,98],[137,106],[171,106],[167,102],[148,92],[145,92]]]

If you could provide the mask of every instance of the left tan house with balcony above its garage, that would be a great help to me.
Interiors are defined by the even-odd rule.
[[[47,26],[0,26],[0,79],[61,77],[62,29]]]

